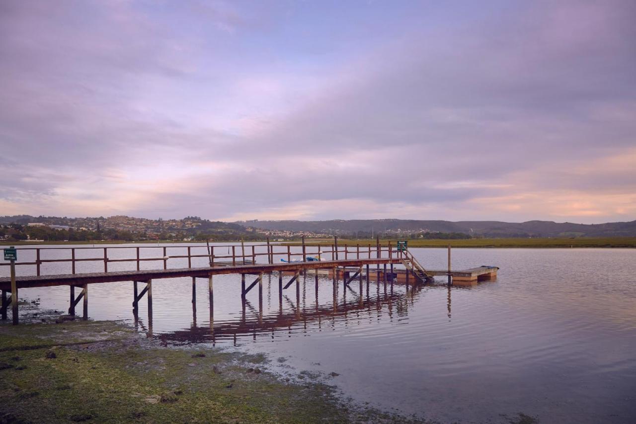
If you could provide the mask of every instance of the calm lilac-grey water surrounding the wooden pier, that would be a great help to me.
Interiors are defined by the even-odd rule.
[[[425,267],[446,265],[445,250],[411,251]],[[20,260],[28,255],[20,252]],[[47,255],[42,258],[70,253]],[[134,249],[109,253],[116,255],[132,257]],[[160,256],[160,250],[147,255]],[[43,269],[70,271],[55,265]],[[181,265],[169,261],[169,267]],[[132,283],[91,285],[89,314],[135,322],[169,342],[263,352],[282,372],[287,365],[296,372],[337,372],[329,381],[354,399],[443,422],[500,422],[506,421],[501,414],[518,412],[542,423],[636,422],[636,250],[453,251],[453,269],[478,265],[501,267],[497,280],[450,289],[439,280],[408,291],[372,281],[362,293],[356,281],[347,290],[340,283],[334,294],[330,278],[319,279],[316,293],[314,277],[307,276],[298,292],[295,285],[284,290],[282,304],[277,276],[264,276],[262,307],[256,289],[244,307],[239,276],[215,276],[214,332],[205,280],[197,286],[196,312],[191,279],[183,278],[153,282],[151,323],[145,299],[133,320]],[[109,270],[132,266],[109,264]],[[77,271],[102,267],[84,262]],[[0,272],[7,275],[8,267]],[[68,288],[25,289],[20,297],[41,298],[43,309],[68,307]],[[286,362],[279,365],[279,357]]]

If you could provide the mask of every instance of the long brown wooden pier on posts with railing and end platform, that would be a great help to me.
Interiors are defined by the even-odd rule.
[[[290,246],[280,244],[249,244],[230,246],[210,245],[176,245],[176,246],[113,246],[113,247],[55,247],[55,248],[18,248],[18,258],[31,253],[30,259],[23,262],[15,262],[16,266],[30,267],[35,271],[32,275],[17,276],[15,278],[1,277],[0,290],[2,300],[0,314],[3,320],[7,318],[8,307],[13,309],[13,323],[18,323],[18,299],[20,288],[33,288],[45,286],[69,286],[69,314],[75,315],[75,308],[80,301],[83,306],[83,319],[88,319],[88,286],[95,283],[115,283],[120,281],[132,282],[132,307],[136,314],[139,301],[145,296],[148,301],[148,312],[152,314],[152,281],[163,278],[192,278],[193,301],[195,299],[195,287],[197,278],[204,278],[208,284],[210,299],[211,322],[214,309],[213,278],[220,274],[240,274],[240,295],[245,295],[258,285],[259,299],[262,299],[263,274],[276,273],[279,277],[279,297],[284,290],[294,282],[298,290],[298,277],[300,274],[313,275],[316,289],[319,276],[327,275],[333,278],[334,285],[342,279],[345,287],[358,280],[362,285],[363,280],[368,283],[373,281],[387,283],[403,276],[408,285],[421,285],[433,281],[434,276],[448,276],[448,283],[455,285],[473,285],[480,278],[494,278],[497,267],[478,267],[466,271],[427,271],[418,260],[413,257],[408,249],[397,249],[392,243],[381,246],[379,239],[375,246],[372,244],[351,246],[345,244],[338,246],[338,239],[334,237],[334,243],[329,250],[322,250],[324,246],[312,246],[305,244],[303,238],[301,251],[292,251]],[[122,255],[122,250],[128,250],[134,255],[127,257]],[[145,255],[148,250],[161,250],[161,256]],[[179,250],[178,255],[169,254]],[[240,250],[240,251],[239,251]],[[316,251],[310,251],[316,250]],[[67,258],[46,258],[51,251],[68,251]],[[84,257],[78,253],[94,253],[99,255]],[[220,254],[219,254],[220,253]],[[122,257],[125,256],[125,257]],[[300,257],[300,258],[299,258]],[[142,269],[142,264],[159,262],[162,267],[158,269]],[[103,271],[100,272],[76,272],[79,264],[84,262],[101,262]],[[109,269],[109,264],[122,264],[132,262],[134,269],[114,271]],[[198,262],[196,264],[195,262]],[[48,274],[47,264],[65,263],[69,266],[69,273]],[[0,263],[10,265],[9,263]],[[169,266],[170,265],[170,266]],[[197,266],[198,265],[198,266]],[[404,267],[397,269],[397,267]],[[56,267],[59,265],[56,265]],[[114,266],[114,265],[112,265]],[[121,265],[120,265],[121,266]],[[111,267],[112,268],[112,267]],[[27,271],[28,272],[28,271]],[[246,279],[250,276],[249,279]],[[251,281],[251,279],[253,281]],[[287,279],[287,281],[284,281]],[[139,286],[141,283],[141,287]],[[140,290],[141,288],[141,290]],[[76,289],[79,291],[76,295]],[[8,294],[11,294],[8,297]]]

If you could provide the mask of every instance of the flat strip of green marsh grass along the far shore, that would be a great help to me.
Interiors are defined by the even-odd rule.
[[[389,241],[395,245],[397,239],[380,239],[380,244],[386,246]],[[228,241],[211,241],[211,243],[240,243],[240,239]],[[35,246],[35,245],[68,245],[68,244],[200,244],[201,241],[158,240],[158,241],[0,241],[0,246]],[[249,240],[245,243],[266,243],[266,239]],[[300,239],[276,241],[272,244],[298,246]],[[376,245],[375,239],[338,239],[338,245],[371,246]],[[308,238],[307,246],[331,246],[333,238]],[[546,238],[474,238],[474,239],[408,239],[408,246],[413,248],[636,248],[636,237],[546,237]]]

